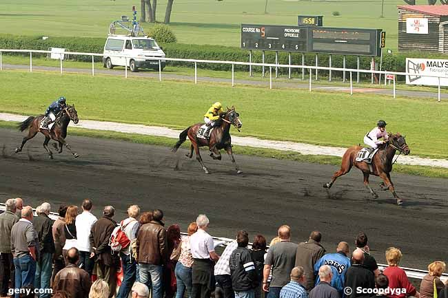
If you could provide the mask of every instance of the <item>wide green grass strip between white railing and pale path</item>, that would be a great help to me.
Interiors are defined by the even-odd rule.
[[[348,147],[383,118],[389,131],[407,136],[414,155],[448,157],[448,103],[434,100],[48,72],[0,72],[0,82],[5,112],[41,114],[63,95],[76,104],[81,121],[183,129],[202,122],[210,104],[221,100],[241,114],[243,131],[234,135]]]

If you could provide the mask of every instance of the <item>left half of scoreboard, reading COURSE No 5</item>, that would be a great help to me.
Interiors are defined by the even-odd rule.
[[[282,25],[241,25],[242,50],[307,52],[307,29]]]

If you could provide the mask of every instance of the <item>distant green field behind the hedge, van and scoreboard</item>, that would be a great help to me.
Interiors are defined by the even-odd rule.
[[[167,0],[159,0],[157,20],[163,21]],[[180,43],[239,46],[241,23],[296,25],[297,14],[323,14],[325,26],[382,28],[387,32],[387,48],[396,50],[398,39],[397,5],[404,1],[294,1],[269,0],[267,14],[261,0],[176,0],[172,28]],[[418,3],[421,4],[421,3]],[[47,36],[95,36],[107,34],[111,21],[131,8],[137,0],[2,0],[0,33]],[[334,17],[332,12],[340,12]],[[143,28],[149,30],[145,23]]]

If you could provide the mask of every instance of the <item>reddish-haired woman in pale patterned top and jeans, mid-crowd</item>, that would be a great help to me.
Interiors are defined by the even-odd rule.
[[[181,255],[179,262],[176,264],[174,273],[176,274],[176,298],[183,298],[183,292],[187,290],[188,298],[192,298],[192,266],[193,257],[190,248],[190,236],[198,231],[196,222],[188,225],[187,236],[182,237]]]

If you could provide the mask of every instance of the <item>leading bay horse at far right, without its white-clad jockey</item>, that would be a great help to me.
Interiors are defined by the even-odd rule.
[[[360,149],[363,149],[363,147],[353,146],[345,151],[340,170],[336,171],[332,177],[332,181],[323,184],[323,187],[329,189],[338,177],[345,175],[350,171],[350,169],[352,169],[353,166],[355,166],[363,172],[364,185],[370,191],[371,195],[373,195],[374,199],[377,199],[378,195],[369,186],[370,174],[380,176],[380,178],[384,181],[384,183],[381,184],[381,187],[384,190],[389,189],[389,191],[391,191],[398,205],[403,204],[403,200],[398,198],[398,195],[395,192],[394,184],[391,182],[390,172],[392,171],[392,165],[394,164],[392,163],[392,160],[396,151],[404,153],[406,156],[411,153],[409,146],[406,144],[405,137],[400,134],[389,133],[388,140],[383,145],[380,145],[380,149],[378,149],[374,157],[371,159],[371,169],[367,162],[356,161],[356,156],[358,156]]]

